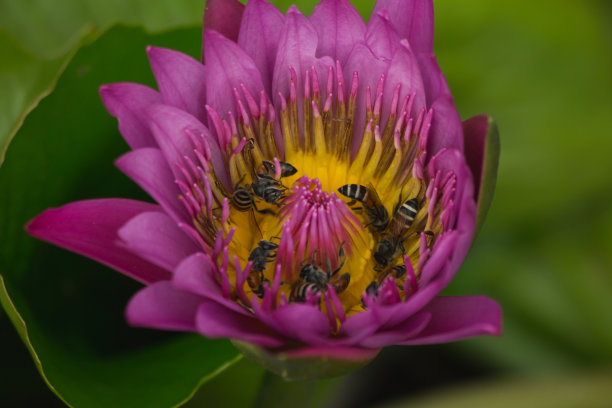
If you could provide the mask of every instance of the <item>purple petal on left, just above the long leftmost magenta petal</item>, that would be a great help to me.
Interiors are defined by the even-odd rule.
[[[177,197],[180,191],[161,150],[145,147],[133,150],[115,161],[115,165],[134,180],[177,222],[190,217]]]

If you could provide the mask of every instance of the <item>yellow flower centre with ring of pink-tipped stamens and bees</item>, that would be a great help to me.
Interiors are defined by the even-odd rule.
[[[314,68],[298,78],[290,68],[287,95],[241,86],[235,115],[207,106],[231,180],[187,129],[198,162],[179,164],[187,182],[177,182],[192,218],[182,228],[216,263],[226,297],[251,311],[318,306],[331,333],[373,301],[415,292],[453,225],[456,179],[426,177],[431,110],[413,111],[415,96],[397,85],[383,114],[386,78],[360,89],[354,72],[347,88],[342,72],[337,63],[327,78]]]

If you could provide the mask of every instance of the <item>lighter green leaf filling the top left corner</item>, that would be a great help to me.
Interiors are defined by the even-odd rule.
[[[78,48],[117,22],[161,31],[198,24],[202,11],[201,0],[0,2],[0,165],[25,116]]]

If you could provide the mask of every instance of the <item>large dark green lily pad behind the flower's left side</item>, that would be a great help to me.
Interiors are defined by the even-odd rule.
[[[0,170],[0,300],[45,380],[71,406],[175,406],[237,358],[228,341],[127,327],[123,309],[139,284],[23,231],[45,208],[69,201],[147,199],[113,167],[128,147],[98,88],[152,85],[146,45],[197,56],[200,39],[199,29],[111,29],[75,55]]]

